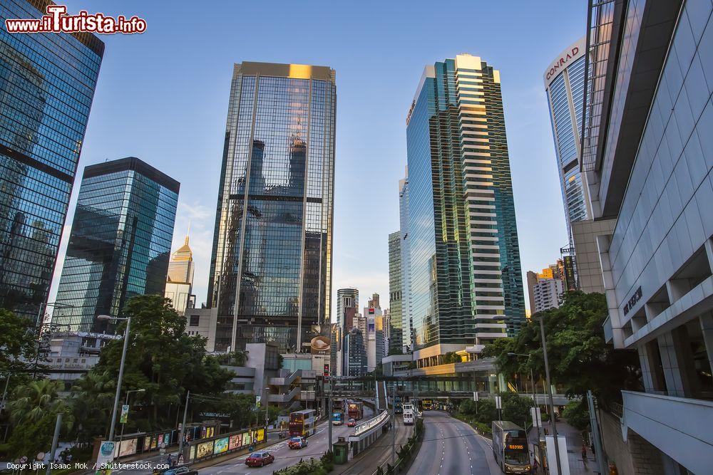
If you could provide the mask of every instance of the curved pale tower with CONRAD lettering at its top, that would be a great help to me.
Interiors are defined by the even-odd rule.
[[[579,167],[586,49],[587,39],[580,38],[560,53],[543,75],[570,242],[570,222],[592,216],[587,186]]]

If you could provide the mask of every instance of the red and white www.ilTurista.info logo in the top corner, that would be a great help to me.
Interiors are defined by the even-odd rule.
[[[47,14],[40,19],[6,19],[5,28],[9,33],[143,33],[146,21],[138,16],[127,19],[123,15],[115,18],[101,13],[89,14],[81,10],[76,15],[68,15],[65,5],[48,5]]]

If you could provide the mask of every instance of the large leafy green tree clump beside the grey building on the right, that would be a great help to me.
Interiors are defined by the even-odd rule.
[[[592,390],[602,407],[621,400],[621,390],[640,390],[640,367],[635,352],[615,350],[604,339],[607,302],[601,293],[574,291],[565,294],[559,308],[535,315],[543,319],[552,381],[569,397],[585,397]],[[496,340],[497,341],[497,340]],[[496,355],[498,370],[544,375],[540,323],[533,318],[511,343],[497,343],[484,350]],[[512,357],[508,353],[522,353]]]

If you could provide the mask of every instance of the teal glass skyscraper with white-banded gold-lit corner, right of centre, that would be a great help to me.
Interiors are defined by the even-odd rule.
[[[525,320],[500,73],[427,66],[406,124],[414,360],[433,361]]]

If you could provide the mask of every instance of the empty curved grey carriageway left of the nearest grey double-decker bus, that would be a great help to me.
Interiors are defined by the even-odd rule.
[[[501,474],[490,441],[445,412],[424,411],[426,432],[409,475]]]

